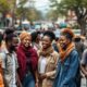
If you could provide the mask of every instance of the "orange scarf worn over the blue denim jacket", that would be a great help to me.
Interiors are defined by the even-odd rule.
[[[69,45],[69,47],[66,48],[66,50],[63,50],[61,47],[59,47],[59,54],[60,54],[60,58],[61,58],[62,62],[73,51],[74,48],[75,48],[75,45],[73,42]]]

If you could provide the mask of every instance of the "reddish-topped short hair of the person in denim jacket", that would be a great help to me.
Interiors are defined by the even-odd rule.
[[[64,35],[67,39],[72,40],[74,38],[74,33],[72,32],[71,28],[64,28],[61,32],[61,35]]]

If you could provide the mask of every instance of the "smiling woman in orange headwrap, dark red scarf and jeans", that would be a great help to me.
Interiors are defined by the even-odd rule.
[[[23,32],[20,39],[21,44],[17,48],[18,75],[23,87],[35,87],[38,55],[30,47],[32,36],[28,33]]]

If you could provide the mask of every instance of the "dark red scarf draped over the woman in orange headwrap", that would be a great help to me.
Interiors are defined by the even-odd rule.
[[[17,53],[17,61],[20,64],[18,75],[22,80],[26,74],[27,57],[28,57],[28,60],[30,61],[32,70],[36,71],[37,63],[38,63],[38,55],[37,55],[37,52],[33,49],[33,47],[28,47],[28,49],[25,49],[25,47],[23,45],[18,46],[16,53]],[[26,57],[26,54],[27,54],[27,57]]]

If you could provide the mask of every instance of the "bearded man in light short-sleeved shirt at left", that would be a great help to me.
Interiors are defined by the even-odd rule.
[[[13,33],[7,34],[5,36],[5,49],[2,51],[2,69],[3,69],[3,82],[4,87],[17,87],[17,74],[16,70],[18,67],[16,54],[15,54],[15,38],[16,36]]]

